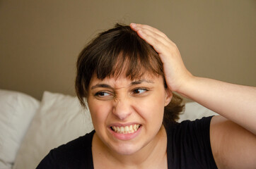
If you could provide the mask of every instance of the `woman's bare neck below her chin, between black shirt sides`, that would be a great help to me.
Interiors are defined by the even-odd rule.
[[[105,144],[103,144],[103,142],[98,138],[97,134],[93,137],[93,144],[95,144],[95,146],[93,146],[93,150],[100,152],[100,159],[105,158],[105,163],[110,163],[115,166],[120,164],[123,167],[140,166],[141,168],[144,168],[143,166],[146,167],[146,165],[151,165],[152,163],[159,163],[159,160],[165,160],[167,157],[167,135],[163,125],[161,126],[158,134],[156,134],[156,137],[151,140],[149,144],[146,144],[146,146],[139,151],[136,151],[134,154],[117,154],[117,152],[112,151],[105,146]]]

